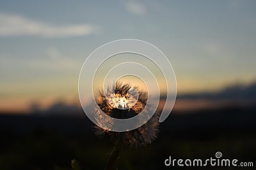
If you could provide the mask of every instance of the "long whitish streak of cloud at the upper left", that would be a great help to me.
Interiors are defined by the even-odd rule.
[[[92,34],[97,29],[90,24],[51,25],[21,15],[0,13],[0,36],[72,37]]]

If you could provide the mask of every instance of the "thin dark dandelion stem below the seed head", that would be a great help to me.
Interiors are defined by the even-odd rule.
[[[124,146],[124,141],[122,139],[121,134],[118,134],[118,139],[116,141],[116,145],[113,148],[113,151],[109,153],[108,160],[106,162],[105,170],[115,170],[116,162],[122,152],[122,148]]]

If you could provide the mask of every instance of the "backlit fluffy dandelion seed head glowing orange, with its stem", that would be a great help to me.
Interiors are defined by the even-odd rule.
[[[110,88],[114,89],[112,94],[109,93],[111,92]],[[128,83],[118,81],[112,87],[109,86],[107,90],[106,96],[103,89],[98,90],[99,94],[96,98],[96,103],[99,107],[95,107],[97,113],[99,113],[100,109],[109,117],[126,119],[135,117],[146,109],[148,94],[143,90],[139,90],[138,87],[131,87]],[[146,111],[149,114],[151,110],[147,108]],[[95,133],[98,136],[108,134],[115,141],[115,148],[109,155],[105,169],[114,169],[123,146],[145,146],[156,139],[159,115],[158,112],[154,113],[147,123],[132,131],[113,132],[111,129],[102,129],[95,126]],[[97,120],[97,122],[102,124],[100,120]]]

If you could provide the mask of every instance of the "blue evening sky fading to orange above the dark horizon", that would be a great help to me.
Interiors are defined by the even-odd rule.
[[[179,94],[255,81],[256,1],[0,1],[0,111],[77,102],[83,62],[134,38],[172,63]]]

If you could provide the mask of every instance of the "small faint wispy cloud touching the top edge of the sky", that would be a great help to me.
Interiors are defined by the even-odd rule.
[[[133,15],[138,16],[143,16],[147,13],[145,6],[135,1],[127,2],[125,4],[125,10],[127,10],[129,13],[132,13]]]

